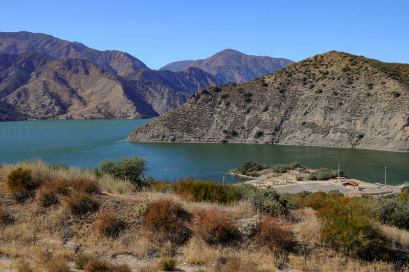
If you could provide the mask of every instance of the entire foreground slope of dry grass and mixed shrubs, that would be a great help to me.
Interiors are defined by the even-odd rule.
[[[0,269],[407,271],[409,188],[381,199],[97,170],[0,167]],[[136,174],[135,174],[136,173]]]

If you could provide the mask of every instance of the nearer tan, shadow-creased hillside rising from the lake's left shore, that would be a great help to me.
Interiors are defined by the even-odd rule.
[[[85,59],[0,54],[0,119],[157,116],[134,83]]]

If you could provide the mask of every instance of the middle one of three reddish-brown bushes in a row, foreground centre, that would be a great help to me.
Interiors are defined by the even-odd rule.
[[[240,238],[240,233],[229,215],[217,209],[196,210],[192,228],[208,244],[226,244]]]

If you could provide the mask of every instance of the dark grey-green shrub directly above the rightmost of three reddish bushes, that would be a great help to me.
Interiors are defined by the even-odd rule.
[[[251,203],[256,212],[271,216],[287,215],[289,211],[287,200],[280,197],[274,189],[256,192],[251,199]]]

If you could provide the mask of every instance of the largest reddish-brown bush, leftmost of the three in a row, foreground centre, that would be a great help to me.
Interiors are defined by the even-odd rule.
[[[156,241],[183,244],[191,237],[188,222],[192,216],[170,199],[153,201],[144,214],[144,234]]]

